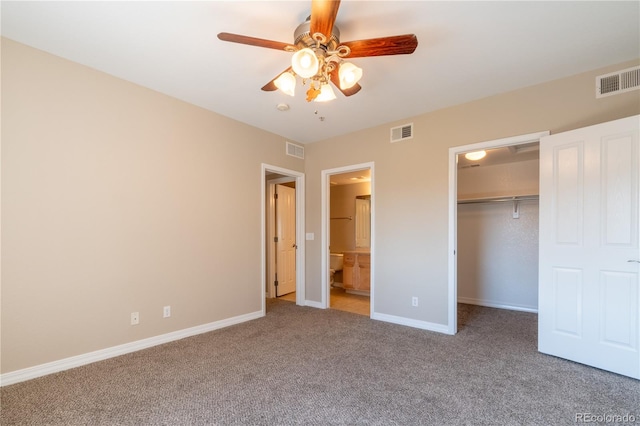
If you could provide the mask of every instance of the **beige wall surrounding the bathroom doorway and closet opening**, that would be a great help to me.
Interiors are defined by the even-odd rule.
[[[450,147],[549,130],[558,133],[640,113],[638,91],[595,99],[595,77],[633,61],[307,145],[307,232],[320,235],[321,171],[374,162],[376,313],[447,324]],[[366,89],[365,89],[366,90]],[[381,108],[392,108],[393,100]],[[414,138],[389,143],[389,128]],[[321,300],[321,240],[306,246],[307,298]],[[419,307],[411,297],[419,297]]]

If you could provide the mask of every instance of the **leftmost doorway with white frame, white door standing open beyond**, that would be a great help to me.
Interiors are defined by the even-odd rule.
[[[287,208],[287,215],[290,223],[294,223],[295,230],[287,235],[279,235],[275,226],[276,206],[273,194],[277,188],[288,194],[290,203]],[[294,170],[283,169],[277,166],[262,164],[261,177],[262,194],[262,313],[266,314],[266,298],[275,297],[276,288],[276,259],[280,257],[280,266],[290,265],[287,272],[287,280],[295,287],[295,302],[297,305],[305,304],[305,246],[304,246],[304,173]],[[284,197],[283,197],[284,198]],[[291,217],[293,216],[293,217]],[[280,238],[288,246],[287,250],[281,250],[281,256],[275,243],[275,238]],[[284,247],[284,246],[283,246]],[[285,261],[286,260],[286,261]],[[283,272],[280,272],[283,275]],[[290,275],[293,274],[292,276]],[[295,283],[295,284],[293,284]],[[289,291],[289,290],[287,290]]]

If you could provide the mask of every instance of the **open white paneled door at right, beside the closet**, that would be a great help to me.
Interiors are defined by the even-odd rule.
[[[540,352],[640,378],[640,116],[540,141]]]

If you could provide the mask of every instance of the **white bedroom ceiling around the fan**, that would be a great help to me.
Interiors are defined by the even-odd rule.
[[[341,40],[414,33],[412,55],[359,58],[362,90],[307,103],[260,88],[310,1],[2,1],[2,35],[309,143],[640,56],[640,2],[343,1]],[[595,82],[594,82],[595,85]],[[278,103],[288,103],[280,112]],[[320,117],[325,117],[323,121]]]

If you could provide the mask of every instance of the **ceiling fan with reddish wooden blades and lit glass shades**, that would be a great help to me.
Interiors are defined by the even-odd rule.
[[[311,15],[296,28],[293,44],[224,32],[218,34],[218,38],[294,53],[291,66],[264,85],[264,91],[280,89],[293,96],[296,76],[299,76],[303,85],[309,83],[308,102],[335,99],[329,83],[345,96],[351,96],[361,89],[358,81],[362,69],[345,59],[411,54],[418,46],[418,39],[415,34],[405,34],[341,42],[340,31],[334,25],[339,7],[340,0],[312,0]]]

